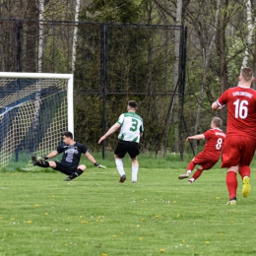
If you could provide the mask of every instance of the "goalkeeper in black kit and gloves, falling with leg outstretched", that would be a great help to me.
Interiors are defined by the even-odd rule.
[[[58,146],[56,151],[51,152],[46,157],[35,157],[32,155],[32,164],[40,167],[51,167],[53,169],[59,170],[60,172],[68,175],[64,181],[70,181],[78,176],[80,176],[87,168],[85,164],[79,164],[81,159],[81,154],[93,162],[97,168],[105,168],[105,166],[96,162],[94,157],[89,153],[86,146],[81,143],[75,142],[73,139],[73,134],[69,131],[62,133],[64,145]],[[63,153],[61,161],[46,161],[48,159],[54,158],[57,155]]]

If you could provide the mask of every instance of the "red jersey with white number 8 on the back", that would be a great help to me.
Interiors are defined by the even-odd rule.
[[[204,154],[213,157],[214,160],[219,160],[224,145],[224,132],[219,128],[214,128],[203,133],[203,136],[207,140],[203,150]]]

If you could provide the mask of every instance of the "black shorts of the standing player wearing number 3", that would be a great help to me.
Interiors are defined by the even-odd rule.
[[[140,154],[139,143],[119,140],[114,150],[114,155],[122,159],[126,153],[129,154],[131,159],[135,159]]]

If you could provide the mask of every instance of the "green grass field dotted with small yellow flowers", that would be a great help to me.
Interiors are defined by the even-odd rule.
[[[99,158],[97,158],[99,159]],[[99,161],[99,160],[98,160]],[[113,160],[72,182],[55,171],[0,172],[0,255],[256,255],[255,175],[225,205],[220,164],[193,184],[187,161],[142,157],[138,183],[118,183]]]

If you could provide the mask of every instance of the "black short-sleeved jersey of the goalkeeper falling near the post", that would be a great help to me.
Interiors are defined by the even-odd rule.
[[[64,153],[61,161],[71,163],[74,165],[79,165],[81,154],[86,154],[88,151],[89,150],[86,146],[78,142],[69,146],[60,145],[57,148],[58,154]]]

